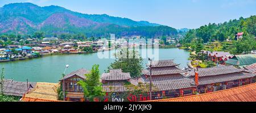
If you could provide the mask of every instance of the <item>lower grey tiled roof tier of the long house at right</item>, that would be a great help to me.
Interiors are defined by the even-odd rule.
[[[220,83],[226,81],[233,81],[236,79],[243,79],[243,78],[250,78],[254,77],[256,74],[251,73],[230,73],[224,74],[220,76],[208,76],[208,77],[200,77],[199,78],[199,85],[207,85],[210,83]]]

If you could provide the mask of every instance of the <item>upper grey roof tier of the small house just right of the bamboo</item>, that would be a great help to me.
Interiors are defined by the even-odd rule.
[[[120,81],[130,78],[130,73],[123,73],[121,69],[111,69],[109,73],[103,73],[101,76],[101,79],[106,81]]]

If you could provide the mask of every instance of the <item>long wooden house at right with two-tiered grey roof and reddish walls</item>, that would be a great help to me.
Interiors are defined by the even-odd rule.
[[[255,74],[245,73],[241,69],[234,66],[218,65],[213,68],[199,68],[197,91],[200,94],[210,93],[218,90],[230,89],[253,83]],[[195,73],[192,72],[192,77]]]

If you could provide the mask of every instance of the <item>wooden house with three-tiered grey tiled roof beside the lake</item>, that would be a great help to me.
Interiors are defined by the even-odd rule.
[[[152,61],[152,84],[158,88],[158,91],[152,94],[152,99],[187,96],[196,91],[193,79],[181,75],[183,71],[177,66],[174,60]],[[150,69],[144,69],[142,73],[144,81],[150,83]]]

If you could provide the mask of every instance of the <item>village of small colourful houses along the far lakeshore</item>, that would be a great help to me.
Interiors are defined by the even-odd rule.
[[[140,39],[140,36],[125,37],[124,40],[116,39],[114,34],[110,34],[111,40],[62,40],[57,37],[46,37],[42,40],[36,38],[22,39],[19,41],[11,41],[8,44],[0,44],[0,62],[25,60],[28,58],[43,57],[46,55],[61,55],[61,54],[79,54],[79,53],[92,53],[97,51],[108,51],[119,48],[127,43],[124,40]],[[25,44],[20,44],[20,41],[25,41]],[[160,47],[180,47],[180,44],[176,44],[177,39],[167,37],[167,41],[172,45],[165,46],[163,43],[159,43],[160,39],[154,39],[152,45],[159,44]],[[144,43],[144,42],[143,42]],[[128,43],[131,46],[142,46],[139,41]],[[145,44],[144,44],[145,45]]]

